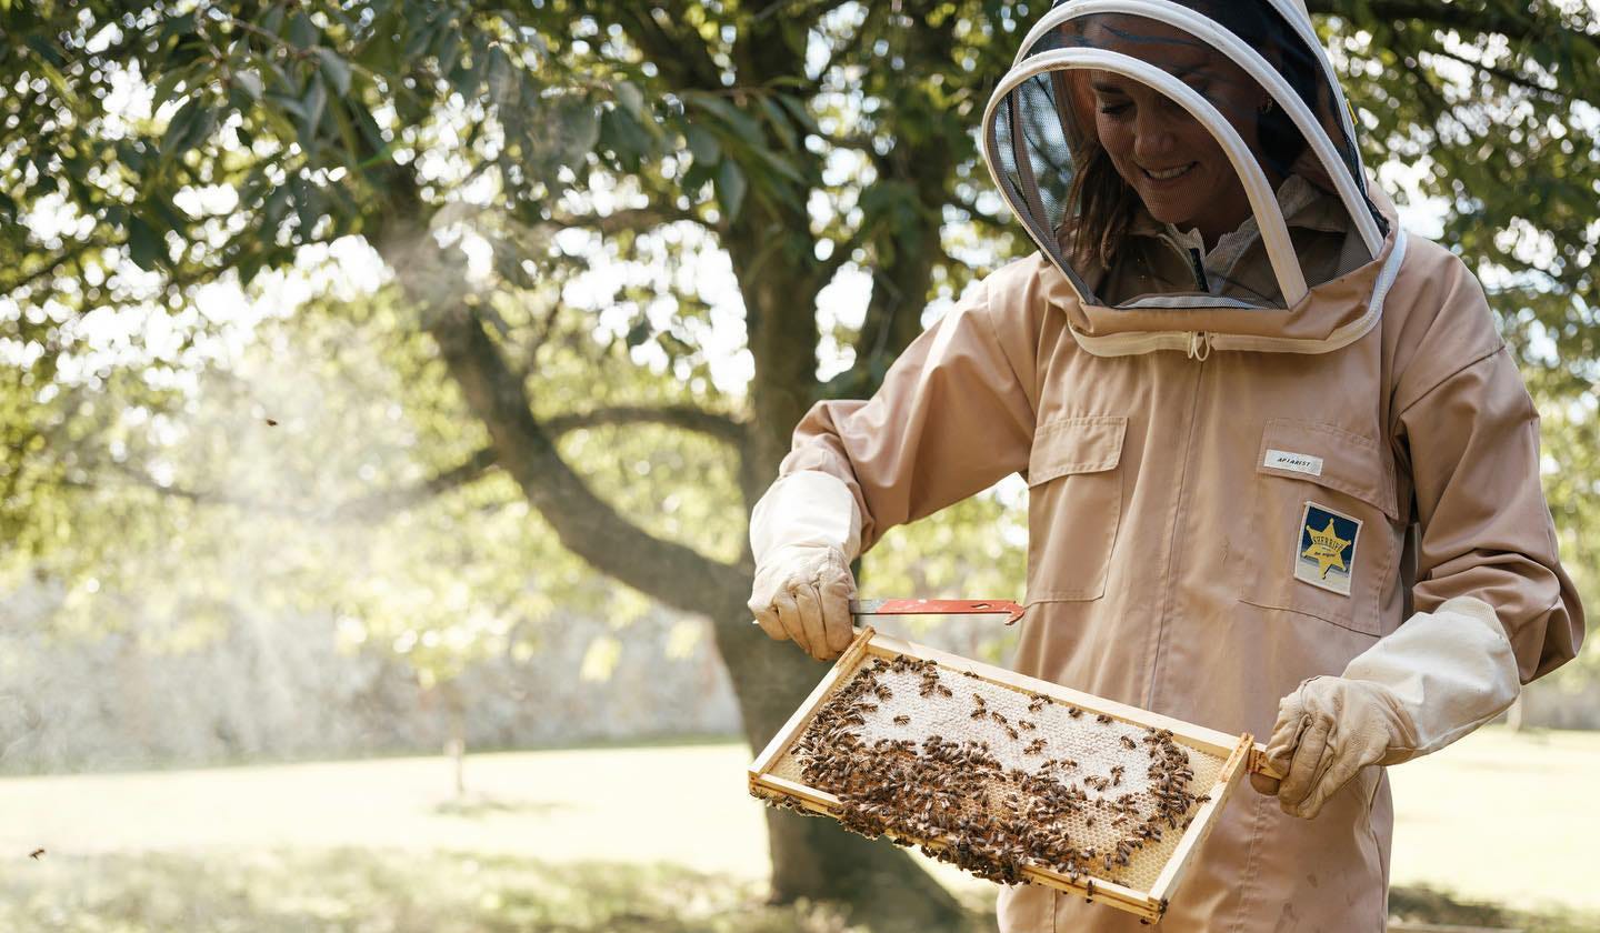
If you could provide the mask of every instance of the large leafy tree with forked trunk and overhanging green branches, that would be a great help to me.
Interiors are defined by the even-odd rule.
[[[461,435],[480,438],[421,485],[493,467],[568,552],[712,618],[747,738],[763,744],[818,669],[749,624],[747,551],[661,530],[626,485],[576,469],[555,426],[714,440],[738,528],[814,400],[869,394],[930,301],[1024,248],[973,130],[1043,3],[0,6],[0,83],[16,91],[0,102],[0,354],[18,363],[0,429],[19,451],[0,467],[0,528],[21,554],[70,536],[46,493],[98,480],[83,450],[117,429],[98,398],[181,402],[160,374],[222,326],[194,312],[206,283],[248,285],[307,246],[360,237],[402,298],[387,326],[432,341],[426,373],[470,418]],[[1592,430],[1592,406],[1573,402],[1597,358],[1600,173],[1579,99],[1600,86],[1589,14],[1506,0],[1312,8],[1341,51],[1368,160],[1422,170],[1419,194],[1445,198],[1445,238],[1491,283],[1541,397]],[[472,275],[474,251],[490,274]],[[710,373],[717,309],[694,277],[707,254],[738,283],[744,386]],[[574,299],[602,259],[632,272]],[[861,320],[819,307],[850,269],[870,269]],[[165,315],[176,342],[146,339],[138,366],[86,352],[91,322],[141,314]],[[574,331],[614,333],[621,349],[595,362],[666,379],[597,384],[565,408],[549,392],[555,347],[581,342],[550,336]],[[819,366],[837,374],[819,379]],[[1558,509],[1594,507],[1592,475],[1554,491],[1570,496]],[[902,853],[822,821],[770,819],[779,899],[954,917]]]

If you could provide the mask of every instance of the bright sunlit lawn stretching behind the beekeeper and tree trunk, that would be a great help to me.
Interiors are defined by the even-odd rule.
[[[474,755],[464,800],[437,757],[0,779],[0,931],[842,930],[763,904],[747,760]],[[1395,768],[1395,915],[1600,930],[1595,773],[1597,735],[1504,730]],[[992,917],[990,885],[930,867]]]

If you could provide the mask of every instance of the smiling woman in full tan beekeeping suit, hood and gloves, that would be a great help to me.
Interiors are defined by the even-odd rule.
[[[1016,669],[1269,736],[1286,775],[1229,802],[1165,927],[1381,930],[1368,765],[1493,719],[1582,639],[1483,290],[1368,186],[1294,0],[1058,5],[982,150],[1038,251],[872,400],[806,414],[752,517],[755,619],[835,656],[850,560],[1019,472]],[[1035,885],[1000,927],[1139,928]]]

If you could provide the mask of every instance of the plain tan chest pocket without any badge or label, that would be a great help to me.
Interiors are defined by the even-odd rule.
[[[1122,519],[1120,416],[1058,418],[1027,459],[1027,600],[1094,600]]]

